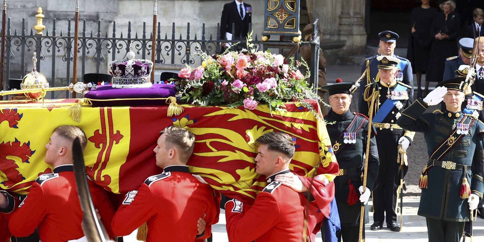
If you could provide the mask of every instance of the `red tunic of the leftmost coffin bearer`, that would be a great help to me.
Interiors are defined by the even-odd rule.
[[[89,180],[94,207],[112,237],[109,227],[114,208],[106,191]],[[77,197],[73,166],[54,168],[54,173],[42,175],[32,184],[30,192],[9,220],[9,228],[16,237],[26,237],[38,227],[39,237],[46,242],[66,242],[82,238],[83,213]]]

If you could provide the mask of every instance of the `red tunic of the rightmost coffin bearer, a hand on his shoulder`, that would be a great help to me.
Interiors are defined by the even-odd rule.
[[[257,195],[250,207],[232,199],[225,205],[227,234],[230,242],[301,242],[304,222],[304,202],[302,193],[273,181]]]

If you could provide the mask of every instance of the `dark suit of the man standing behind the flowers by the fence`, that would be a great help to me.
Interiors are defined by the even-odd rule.
[[[242,19],[239,14],[239,9],[235,0],[224,5],[222,11],[222,19],[220,20],[220,39],[226,39],[225,33],[233,34],[232,39],[244,40],[249,33],[249,24],[252,23],[252,6],[243,2],[245,9],[245,16]],[[251,11],[248,11],[250,9]],[[232,24],[235,24],[235,29],[232,30]]]

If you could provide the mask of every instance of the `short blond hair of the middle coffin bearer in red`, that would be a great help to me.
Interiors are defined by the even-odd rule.
[[[177,126],[166,127],[164,130],[160,131],[160,135],[162,134],[166,134],[166,150],[175,147],[179,151],[180,158],[183,161],[188,161],[193,153],[193,148],[195,147],[195,135],[192,132]]]

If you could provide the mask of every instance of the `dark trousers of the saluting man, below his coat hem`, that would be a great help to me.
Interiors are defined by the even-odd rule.
[[[428,242],[460,242],[466,222],[449,222],[425,218],[428,230]]]

